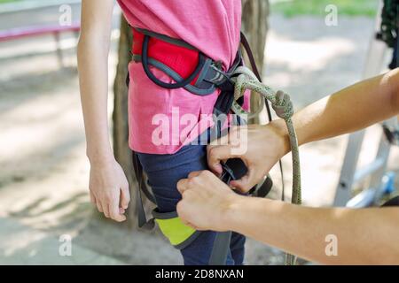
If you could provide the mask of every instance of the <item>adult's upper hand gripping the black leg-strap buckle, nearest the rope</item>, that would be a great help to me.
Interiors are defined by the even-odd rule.
[[[232,127],[228,135],[207,146],[207,163],[213,172],[220,174],[221,162],[233,157],[241,158],[248,171],[240,180],[231,181],[231,186],[246,193],[259,183],[289,150],[286,124],[279,119],[266,126]]]

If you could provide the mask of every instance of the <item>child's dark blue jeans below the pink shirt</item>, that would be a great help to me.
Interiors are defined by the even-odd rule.
[[[204,145],[187,145],[172,155],[137,153],[137,156],[148,176],[160,212],[176,210],[181,199],[176,189],[178,180],[186,178],[190,172],[207,169],[207,148]],[[181,249],[184,264],[207,265],[215,235],[213,231],[205,231],[188,247]],[[245,241],[243,235],[232,233],[226,264],[243,264]]]

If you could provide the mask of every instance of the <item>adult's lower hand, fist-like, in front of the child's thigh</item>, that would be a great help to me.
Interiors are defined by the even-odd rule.
[[[187,179],[177,182],[182,200],[177,203],[177,214],[184,224],[196,230],[228,231],[225,216],[232,203],[243,196],[209,171],[191,172]]]

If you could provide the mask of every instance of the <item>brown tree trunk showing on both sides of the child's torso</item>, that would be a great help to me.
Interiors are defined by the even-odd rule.
[[[263,67],[263,50],[268,29],[267,18],[269,15],[269,3],[267,0],[242,0],[243,21],[242,29],[251,44],[256,64],[260,73]],[[114,81],[114,109],[113,109],[113,151],[116,160],[121,164],[130,184],[131,203],[128,210],[129,227],[136,226],[135,190],[137,183],[134,178],[131,150],[128,144],[128,88],[126,76],[130,60],[129,49],[132,44],[131,33],[125,19],[121,19],[121,38],[119,42],[116,77]],[[251,101],[258,105],[257,96]]]

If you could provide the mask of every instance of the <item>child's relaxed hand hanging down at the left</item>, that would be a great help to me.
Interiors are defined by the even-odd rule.
[[[121,222],[130,202],[129,183],[116,160],[90,165],[90,201],[106,218]]]

